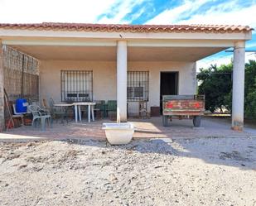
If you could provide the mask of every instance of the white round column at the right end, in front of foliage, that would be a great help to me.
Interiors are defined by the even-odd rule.
[[[236,131],[244,127],[244,47],[244,41],[234,43],[232,129]]]

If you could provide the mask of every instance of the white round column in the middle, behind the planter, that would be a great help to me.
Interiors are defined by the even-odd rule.
[[[117,121],[127,122],[127,41],[118,41],[117,104]]]

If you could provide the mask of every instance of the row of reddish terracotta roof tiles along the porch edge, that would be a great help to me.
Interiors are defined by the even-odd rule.
[[[2,29],[53,30],[53,31],[108,31],[108,32],[205,32],[232,33],[254,30],[249,26],[234,25],[122,25],[122,24],[82,24],[82,23],[39,23],[1,24]]]

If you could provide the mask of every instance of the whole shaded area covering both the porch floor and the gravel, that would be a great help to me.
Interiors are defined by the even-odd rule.
[[[256,170],[256,138],[251,138],[249,132],[231,131],[229,124],[218,120],[206,118],[202,122],[203,128],[195,130],[191,127],[190,120],[177,120],[171,122],[170,127],[162,127],[161,118],[133,119],[132,122],[137,127],[134,137],[141,139],[125,146],[110,146],[107,143],[101,129],[102,122],[104,121],[79,124],[71,122],[68,125],[56,125],[46,132],[40,132],[38,128],[21,127],[7,132],[7,135],[31,137],[28,141],[35,141],[32,138],[38,137],[38,140],[47,138],[67,141],[69,144],[197,158],[209,164]]]

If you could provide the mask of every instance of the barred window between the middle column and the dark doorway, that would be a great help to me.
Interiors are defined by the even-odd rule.
[[[128,71],[127,74],[128,102],[148,101],[148,71]]]

